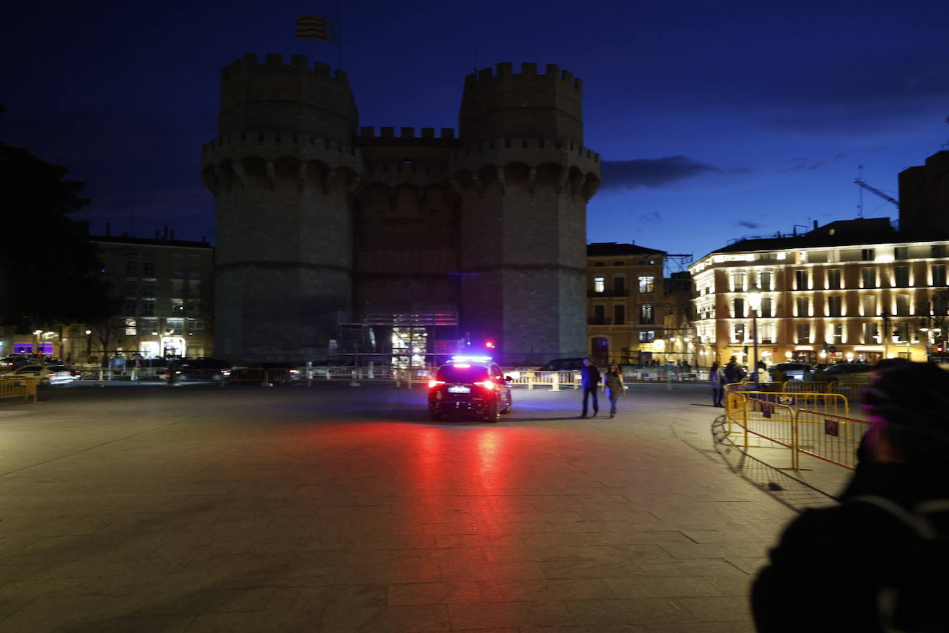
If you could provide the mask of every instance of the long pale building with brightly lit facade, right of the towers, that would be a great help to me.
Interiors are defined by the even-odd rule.
[[[906,223],[910,225],[910,223]],[[689,267],[698,360],[923,361],[946,343],[949,235],[888,218],[745,238]],[[760,290],[754,315],[751,293]],[[753,318],[755,317],[755,318]]]

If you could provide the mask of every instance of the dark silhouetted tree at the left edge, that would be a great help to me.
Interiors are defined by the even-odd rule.
[[[84,223],[67,215],[89,203],[66,168],[0,143],[0,324],[31,329],[96,322],[118,310]]]

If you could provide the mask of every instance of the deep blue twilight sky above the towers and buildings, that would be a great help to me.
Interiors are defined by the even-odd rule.
[[[0,140],[65,165],[113,234],[214,237],[198,178],[220,67],[244,53],[337,47],[294,39],[331,0],[18,3],[4,10]],[[856,217],[858,165],[897,174],[949,142],[942,0],[343,0],[343,66],[362,125],[457,127],[465,75],[510,61],[584,81],[585,144],[604,161],[587,242],[695,259],[742,235]],[[863,195],[865,217],[896,209]],[[673,269],[677,270],[677,269]]]

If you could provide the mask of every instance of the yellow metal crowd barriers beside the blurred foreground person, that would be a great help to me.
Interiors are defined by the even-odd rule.
[[[726,423],[719,432],[740,438],[739,445],[746,449],[788,448],[791,470],[800,470],[802,455],[853,470],[857,447],[871,422],[851,418],[843,394],[761,389],[774,384],[782,383],[760,383],[757,390],[749,389],[749,383],[727,385]]]

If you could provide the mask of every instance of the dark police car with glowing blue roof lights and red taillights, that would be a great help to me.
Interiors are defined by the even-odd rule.
[[[490,357],[453,357],[428,382],[429,418],[458,413],[496,422],[500,414],[511,413],[510,380]]]

